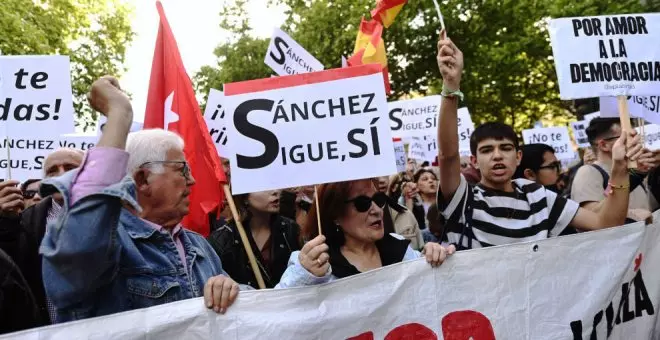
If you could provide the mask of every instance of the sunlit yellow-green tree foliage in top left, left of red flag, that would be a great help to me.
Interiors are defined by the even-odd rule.
[[[69,55],[74,107],[86,129],[96,120],[85,98],[92,82],[124,71],[129,14],[120,0],[2,0],[0,52]]]

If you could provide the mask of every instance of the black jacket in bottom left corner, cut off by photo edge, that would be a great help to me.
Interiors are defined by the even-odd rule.
[[[39,314],[18,266],[0,250],[0,334],[41,326]]]

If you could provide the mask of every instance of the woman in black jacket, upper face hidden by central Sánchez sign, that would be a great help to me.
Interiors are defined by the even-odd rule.
[[[289,256],[300,249],[300,227],[280,214],[280,198],[280,190],[234,196],[266,288],[273,288],[280,281]],[[234,281],[259,288],[236,221],[230,220],[213,231],[208,241]]]

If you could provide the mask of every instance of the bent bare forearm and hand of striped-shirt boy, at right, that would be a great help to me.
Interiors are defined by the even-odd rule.
[[[626,140],[632,138],[626,151]],[[644,154],[639,135],[624,132],[612,148],[612,176],[609,193],[598,212],[580,208],[571,224],[580,230],[598,230],[623,225],[628,215],[630,177],[628,160],[637,160]]]

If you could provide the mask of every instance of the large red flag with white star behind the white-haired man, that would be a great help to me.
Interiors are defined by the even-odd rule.
[[[227,183],[227,178],[199,110],[192,82],[183,67],[163,5],[157,1],[156,7],[160,25],[151,64],[144,128],[174,131],[185,141],[184,153],[197,183],[190,192],[190,212],[182,223],[206,237],[208,214],[222,204],[222,185]]]

